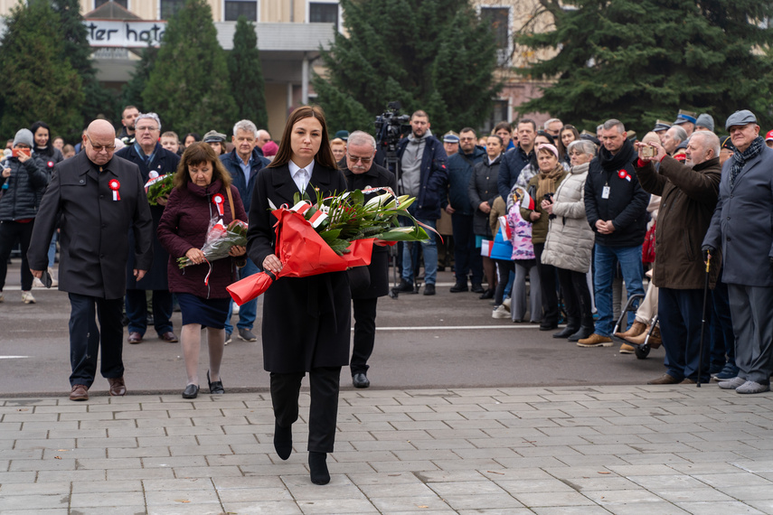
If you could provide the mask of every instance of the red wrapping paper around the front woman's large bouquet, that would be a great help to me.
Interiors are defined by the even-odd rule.
[[[277,233],[275,251],[282,269],[276,278],[260,272],[227,286],[226,290],[237,305],[262,295],[280,277],[317,276],[371,264],[373,239],[355,239],[347,248],[349,252],[338,256],[302,215],[284,208],[272,214],[278,220],[274,226]]]

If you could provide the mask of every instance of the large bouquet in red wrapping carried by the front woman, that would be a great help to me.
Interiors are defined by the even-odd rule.
[[[365,193],[376,191],[384,193],[365,203]],[[276,276],[260,272],[228,286],[236,304],[263,294],[279,277],[316,276],[369,265],[374,242],[394,245],[429,239],[422,224],[408,212],[416,199],[398,197],[391,188],[317,196],[315,202],[296,194],[294,200],[296,205],[291,208],[284,205],[271,211],[278,220],[275,253],[282,270]],[[412,220],[413,227],[401,227],[400,217]]]

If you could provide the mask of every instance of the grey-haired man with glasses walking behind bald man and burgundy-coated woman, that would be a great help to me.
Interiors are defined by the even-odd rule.
[[[137,164],[142,175],[143,183],[154,176],[162,176],[166,173],[174,173],[180,156],[166,150],[158,142],[161,136],[161,120],[156,113],[144,113],[135,119],[134,145],[128,145],[116,152],[118,157],[123,157]],[[153,266],[147,271],[145,278],[138,281],[134,276],[127,275],[127,318],[128,318],[128,342],[142,342],[148,325],[146,290],[153,291],[153,325],[158,337],[164,342],[178,342],[177,335],[172,327],[172,294],[166,280],[166,262],[169,254],[161,246],[156,237],[156,229],[161,215],[164,214],[166,199],[158,200],[158,205],[150,206],[153,215]],[[129,245],[131,245],[129,234]],[[127,270],[135,267],[134,257],[129,254]]]

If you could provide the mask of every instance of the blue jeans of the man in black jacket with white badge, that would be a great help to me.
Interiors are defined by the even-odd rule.
[[[631,295],[644,295],[642,286],[642,246],[636,247],[605,247],[596,244],[594,256],[593,289],[596,292],[596,310],[599,312],[599,320],[596,321],[596,333],[599,336],[610,336],[615,327],[612,318],[612,280],[615,278],[615,263],[619,261],[623,272],[623,280],[626,282],[628,297]],[[636,320],[636,312],[628,312],[627,327]]]

